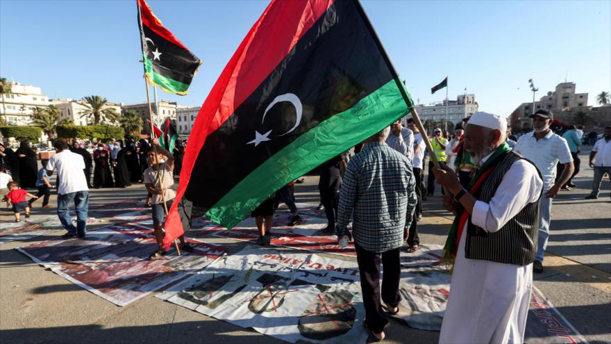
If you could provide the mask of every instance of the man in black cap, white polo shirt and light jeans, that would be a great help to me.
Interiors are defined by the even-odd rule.
[[[545,247],[549,238],[549,224],[551,218],[552,199],[558,191],[569,181],[573,171],[573,157],[567,140],[551,131],[553,114],[548,110],[537,110],[533,119],[534,131],[520,136],[514,151],[535,163],[543,176],[544,191],[539,201],[539,236],[537,239],[537,257],[533,263],[533,271],[543,272],[543,258]],[[562,175],[556,179],[556,165],[558,161],[564,165]]]

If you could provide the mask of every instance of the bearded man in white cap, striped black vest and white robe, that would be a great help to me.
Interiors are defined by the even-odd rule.
[[[478,170],[467,188],[448,167],[433,169],[456,214],[444,259],[454,261],[440,343],[524,343],[537,253],[543,179],[514,153],[504,117],[475,113],[464,148]]]

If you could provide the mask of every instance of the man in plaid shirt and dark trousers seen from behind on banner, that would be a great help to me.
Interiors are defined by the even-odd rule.
[[[381,299],[387,312],[399,311],[399,248],[403,229],[412,222],[416,207],[415,177],[410,159],[395,151],[385,140],[390,128],[367,140],[354,156],[340,188],[335,234],[352,238],[346,229],[351,214],[353,236],[360,272],[360,284],[367,318],[365,325],[383,339],[388,323],[380,302],[380,258],[384,265]]]

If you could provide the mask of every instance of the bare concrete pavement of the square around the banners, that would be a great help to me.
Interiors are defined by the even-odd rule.
[[[317,203],[317,177],[305,179],[296,186],[296,198]],[[589,193],[591,181],[592,169],[583,154],[583,171],[576,178],[578,188],[561,193],[554,201],[546,270],[535,275],[535,286],[587,341],[610,343],[611,186],[605,181],[601,197],[586,201],[583,197]],[[123,199],[143,199],[145,195],[142,185],[92,190],[90,202],[93,208]],[[55,204],[55,197],[51,204]],[[421,242],[443,244],[451,214],[440,207],[440,197],[429,198],[424,208],[425,217],[419,224]],[[40,208],[33,213],[40,213]],[[12,216],[7,211],[0,214],[0,221]],[[103,210],[98,214],[101,218]],[[128,306],[115,306],[13,249],[61,233],[50,231],[26,242],[0,246],[2,343],[280,343],[256,331],[163,302],[153,297],[154,293]],[[210,241],[224,243],[230,252],[245,245],[221,238]],[[410,329],[394,320],[387,328],[388,343],[436,343],[438,336],[438,332]]]

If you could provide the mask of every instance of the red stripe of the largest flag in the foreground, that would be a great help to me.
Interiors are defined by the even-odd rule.
[[[333,1],[273,0],[265,8],[221,72],[197,114],[185,151],[177,201],[185,194],[193,165],[206,137],[219,129],[246,97],[256,90],[301,37],[326,13]],[[172,204],[165,222],[165,247],[169,247],[174,239],[184,233],[176,211],[178,203]]]

